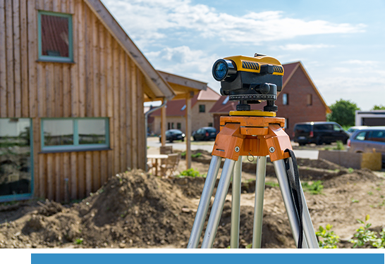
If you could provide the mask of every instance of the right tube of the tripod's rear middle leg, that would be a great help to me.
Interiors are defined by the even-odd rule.
[[[257,172],[255,181],[254,227],[252,230],[252,249],[261,249],[262,218],[264,201],[264,181],[266,177],[266,156],[257,157]]]

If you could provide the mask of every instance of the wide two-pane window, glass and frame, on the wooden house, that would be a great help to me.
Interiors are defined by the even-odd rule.
[[[42,119],[42,151],[109,148],[108,118]]]

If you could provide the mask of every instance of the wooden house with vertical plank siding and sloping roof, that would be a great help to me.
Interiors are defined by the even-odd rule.
[[[0,1],[0,200],[81,199],[145,169],[143,102],[175,95],[101,1]]]

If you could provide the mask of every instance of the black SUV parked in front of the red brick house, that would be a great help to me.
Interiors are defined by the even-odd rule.
[[[336,122],[299,122],[294,125],[294,142],[300,146],[330,144],[338,140],[346,144],[350,135]]]

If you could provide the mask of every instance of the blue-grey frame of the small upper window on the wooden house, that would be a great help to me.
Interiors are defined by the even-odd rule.
[[[68,57],[42,55],[42,15],[53,15],[61,18],[68,18]],[[47,61],[55,63],[74,63],[73,61],[73,21],[72,15],[68,13],[58,13],[41,11],[37,13],[37,61]]]

